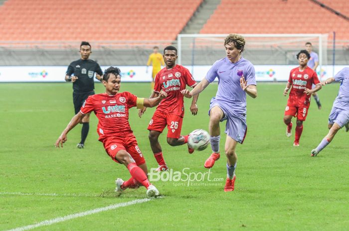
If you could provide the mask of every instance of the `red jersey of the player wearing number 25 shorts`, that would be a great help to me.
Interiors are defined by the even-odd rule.
[[[163,90],[168,96],[160,102],[157,110],[183,116],[184,101],[180,91],[185,89],[185,85],[190,87],[196,85],[188,69],[181,65],[175,65],[172,69],[163,68],[155,77],[154,91],[159,93]]]

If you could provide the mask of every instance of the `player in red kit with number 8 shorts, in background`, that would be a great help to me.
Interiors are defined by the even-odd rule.
[[[284,95],[287,95],[291,88],[290,95],[285,109],[284,123],[287,125],[286,136],[292,135],[292,117],[297,115],[296,135],[293,146],[299,146],[299,139],[303,132],[303,121],[306,120],[310,106],[312,93],[321,89],[321,83],[316,72],[307,66],[310,54],[302,50],[297,54],[299,67],[292,69],[288,79]],[[312,84],[316,86],[312,89]]]

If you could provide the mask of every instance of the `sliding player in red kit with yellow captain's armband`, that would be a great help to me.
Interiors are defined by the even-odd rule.
[[[56,141],[55,146],[63,147],[67,141],[68,132],[91,111],[98,118],[97,133],[99,141],[103,143],[107,154],[115,161],[124,164],[131,173],[128,181],[116,180],[116,191],[126,188],[137,188],[139,184],[147,188],[147,195],[155,197],[159,195],[158,189],[150,184],[147,178],[147,165],[141,150],[129,124],[129,108],[155,107],[167,96],[164,91],[159,92],[158,97],[147,99],[139,98],[130,92],[120,90],[120,69],[110,67],[104,71],[102,83],[105,93],[89,96],[77,113],[64,129]]]

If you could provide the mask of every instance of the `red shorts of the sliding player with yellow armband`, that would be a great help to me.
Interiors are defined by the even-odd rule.
[[[136,137],[132,133],[123,134],[122,137],[108,137],[103,141],[104,149],[106,153],[117,163],[117,153],[120,150],[128,152],[132,158],[136,161],[137,165],[144,164],[146,160],[138,147]]]

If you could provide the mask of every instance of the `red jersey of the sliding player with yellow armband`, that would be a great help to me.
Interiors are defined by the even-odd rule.
[[[129,108],[136,104],[137,96],[127,91],[116,95],[102,93],[90,95],[82,105],[80,112],[82,114],[95,112],[98,118],[98,140],[103,141],[106,137],[132,133],[129,124]]]

